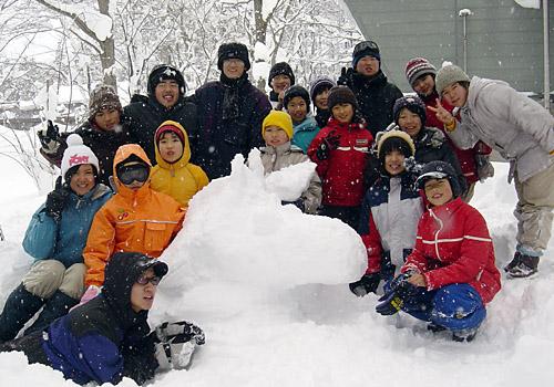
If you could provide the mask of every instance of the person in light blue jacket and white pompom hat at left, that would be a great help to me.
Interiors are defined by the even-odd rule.
[[[33,215],[23,249],[34,263],[10,293],[0,314],[0,343],[14,338],[41,307],[24,332],[40,331],[68,313],[83,295],[86,270],[82,251],[96,211],[112,191],[98,184],[99,160],[76,134],[68,137],[61,161],[62,176],[47,202]]]

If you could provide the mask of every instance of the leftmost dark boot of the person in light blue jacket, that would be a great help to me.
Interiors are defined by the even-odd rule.
[[[44,300],[20,284],[6,300],[0,314],[0,343],[14,338],[25,323],[44,305]]]

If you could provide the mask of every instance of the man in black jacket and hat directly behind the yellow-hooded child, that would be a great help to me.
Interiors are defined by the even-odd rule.
[[[131,136],[155,164],[154,133],[165,121],[183,125],[194,148],[197,133],[196,106],[185,98],[185,79],[174,66],[160,64],[148,75],[148,96],[134,98],[123,108]],[[193,150],[194,151],[194,150]]]

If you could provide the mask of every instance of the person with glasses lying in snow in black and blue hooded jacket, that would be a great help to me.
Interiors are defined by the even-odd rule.
[[[147,323],[157,284],[167,265],[151,257],[116,253],[105,268],[102,294],[50,324],[44,332],[0,345],[21,351],[84,385],[117,384],[123,377],[142,385],[155,373],[187,368],[204,332],[187,322],[163,323],[152,333]]]

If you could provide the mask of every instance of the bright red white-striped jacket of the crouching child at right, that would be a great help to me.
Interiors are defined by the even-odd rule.
[[[423,274],[428,290],[469,283],[483,303],[489,303],[501,287],[486,222],[460,198],[423,213],[416,248],[401,271],[408,270]]]

